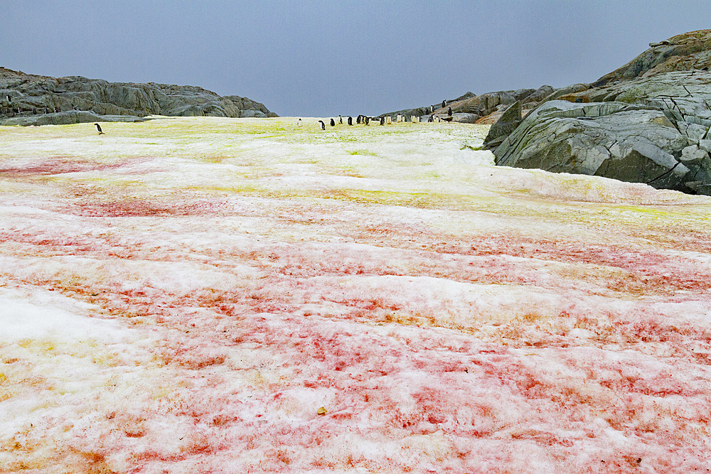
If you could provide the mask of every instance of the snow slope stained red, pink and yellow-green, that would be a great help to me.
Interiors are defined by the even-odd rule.
[[[0,129],[0,470],[707,470],[711,198],[295,123]]]

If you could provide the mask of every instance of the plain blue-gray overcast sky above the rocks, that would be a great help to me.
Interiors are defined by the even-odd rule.
[[[708,0],[0,0],[0,65],[198,85],[282,116],[380,114],[471,91],[591,82]]]

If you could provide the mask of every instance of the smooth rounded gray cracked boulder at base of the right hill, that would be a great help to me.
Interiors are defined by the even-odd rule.
[[[703,181],[707,165],[700,158],[681,159],[687,147],[688,138],[660,110],[621,102],[550,101],[531,112],[494,154],[496,163],[504,166],[693,192],[686,183],[708,183]],[[698,151],[696,147],[685,153],[697,158]]]

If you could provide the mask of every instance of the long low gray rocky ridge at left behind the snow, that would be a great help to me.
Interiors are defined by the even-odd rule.
[[[0,124],[137,122],[150,115],[274,117],[247,97],[202,87],[50,77],[0,68]]]

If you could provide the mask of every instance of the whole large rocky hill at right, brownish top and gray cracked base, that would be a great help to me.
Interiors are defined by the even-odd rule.
[[[711,30],[652,43],[592,84],[553,92],[513,129],[504,114],[485,144],[502,166],[711,195],[710,65]]]

